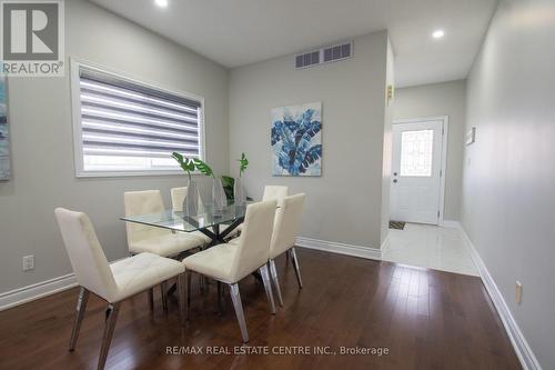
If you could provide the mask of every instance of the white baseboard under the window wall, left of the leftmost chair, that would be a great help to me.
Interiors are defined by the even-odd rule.
[[[62,277],[38,282],[0,293],[0,311],[47,297],[59,291],[77,287],[75,276],[68,273]]]

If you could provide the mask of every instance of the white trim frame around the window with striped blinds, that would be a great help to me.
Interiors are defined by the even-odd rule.
[[[206,138],[205,138],[205,103],[204,98],[188,91],[168,89],[159,83],[145,81],[141,78],[130,76],[128,73],[122,73],[103,66],[99,66],[89,61],[83,61],[77,58],[70,58],[70,91],[71,91],[71,119],[73,126],[73,159],[75,166],[75,177],[77,178],[99,178],[99,177],[128,177],[128,176],[168,176],[168,174],[183,174],[180,168],[175,170],[163,169],[163,170],[139,170],[139,171],[85,171],[83,169],[83,148],[82,148],[82,132],[81,132],[81,99],[80,99],[80,78],[79,69],[80,67],[99,71],[104,74],[113,76],[121,80],[127,80],[133,83],[142,84],[147,88],[160,90],[174,96],[183,97],[191,100],[200,101],[201,111],[199,116],[199,146],[200,146],[200,159],[206,160]]]

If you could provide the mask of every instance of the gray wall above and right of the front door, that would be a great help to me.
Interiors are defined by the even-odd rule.
[[[465,139],[466,81],[424,84],[398,89],[394,119],[448,116],[445,220],[460,220],[461,184]]]

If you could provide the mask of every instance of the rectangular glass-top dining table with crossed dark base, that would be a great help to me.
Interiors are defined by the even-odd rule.
[[[230,232],[243,222],[246,206],[229,204],[223,209],[216,209],[211,204],[203,204],[196,214],[185,214],[182,211],[167,209],[159,213],[125,216],[120,219],[172,232],[200,231],[212,240],[211,244],[216,244],[223,243]],[[222,228],[222,224],[225,228]]]

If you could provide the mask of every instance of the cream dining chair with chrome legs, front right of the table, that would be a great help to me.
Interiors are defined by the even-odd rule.
[[[246,207],[241,237],[234,239],[232,242],[209,248],[183,260],[188,278],[186,318],[189,318],[191,272],[193,271],[229,284],[243,342],[246,343],[249,341],[249,332],[239,293],[239,281],[241,279],[256,270],[260,272],[271,312],[275,314],[272,287],[266,266],[270,256],[270,241],[272,239],[275,208],[275,200],[249,204]]]

